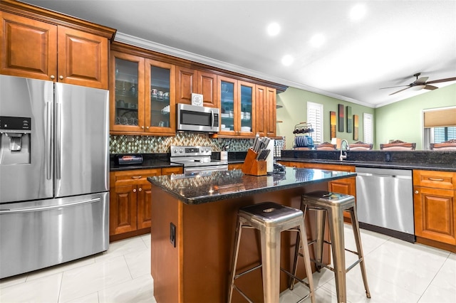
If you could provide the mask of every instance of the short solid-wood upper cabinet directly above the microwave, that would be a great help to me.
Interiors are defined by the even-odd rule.
[[[176,102],[192,104],[192,92],[203,95],[203,106],[217,107],[217,76],[202,70],[176,67]]]

